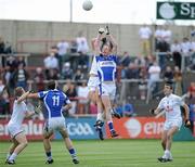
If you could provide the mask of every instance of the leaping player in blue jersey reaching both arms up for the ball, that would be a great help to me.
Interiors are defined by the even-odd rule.
[[[115,77],[117,66],[117,56],[113,54],[113,52],[117,50],[117,44],[112,35],[109,34],[108,27],[106,27],[106,40],[100,48],[101,53],[94,56],[90,74],[99,77],[99,93],[101,97],[103,108],[105,111],[105,119],[109,127],[110,134],[114,138],[118,136],[114,129],[112,119],[112,103],[115,99],[116,93]]]

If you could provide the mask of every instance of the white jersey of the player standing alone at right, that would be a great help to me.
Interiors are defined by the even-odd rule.
[[[161,99],[158,104],[158,108],[166,111],[166,120],[181,119],[180,106],[183,106],[184,102],[176,94],[170,94]]]

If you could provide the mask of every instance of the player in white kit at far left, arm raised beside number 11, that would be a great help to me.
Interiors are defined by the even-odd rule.
[[[16,156],[27,146],[28,142],[22,127],[24,118],[35,115],[35,112],[28,112],[24,102],[29,91],[25,92],[22,87],[17,87],[14,90],[15,100],[13,104],[13,112],[11,119],[8,124],[8,130],[12,138],[12,145],[9,149],[6,155],[6,164],[15,164]]]

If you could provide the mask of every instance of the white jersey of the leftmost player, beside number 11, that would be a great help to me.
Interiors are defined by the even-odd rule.
[[[9,121],[9,125],[22,126],[26,112],[27,106],[25,102],[17,103],[17,100],[15,100],[13,104],[13,113]]]

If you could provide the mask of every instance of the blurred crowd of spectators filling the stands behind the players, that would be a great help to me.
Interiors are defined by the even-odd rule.
[[[182,41],[172,39],[173,33],[167,25],[157,26],[155,31],[143,25],[139,31],[140,54],[134,56],[123,51],[118,57],[118,81],[127,80],[126,85],[136,82],[136,99],[150,102],[161,93],[159,84],[165,80],[174,82],[174,93],[185,98],[191,108],[195,105],[195,82],[184,88],[183,73],[195,70],[195,34],[183,37]],[[152,38],[154,37],[154,46]],[[49,49],[42,59],[42,66],[29,73],[23,56],[14,56],[12,47],[0,38],[0,54],[2,56],[0,79],[0,115],[9,114],[13,89],[23,87],[41,91],[47,89],[47,80],[62,80],[61,89],[70,98],[74,114],[96,114],[96,105],[88,99],[88,73],[92,54],[86,37],[81,34],[72,42],[62,40]],[[31,80],[31,85],[29,85]],[[127,91],[127,90],[126,90]],[[128,90],[128,91],[131,91]],[[118,92],[117,97],[121,95]],[[133,104],[123,100],[116,107],[122,116],[134,116]]]

